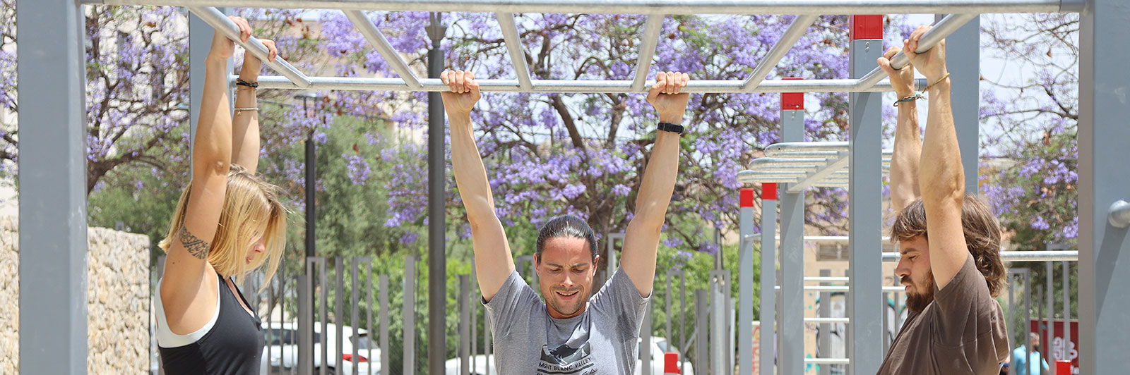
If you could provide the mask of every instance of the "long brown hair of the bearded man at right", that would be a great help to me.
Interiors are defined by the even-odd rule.
[[[962,203],[962,230],[965,247],[973,254],[973,262],[985,277],[989,294],[997,297],[1007,282],[1005,263],[1000,260],[1000,224],[992,209],[976,195],[965,195]],[[928,237],[925,207],[922,199],[907,204],[890,227],[890,242],[898,243],[918,236]]]

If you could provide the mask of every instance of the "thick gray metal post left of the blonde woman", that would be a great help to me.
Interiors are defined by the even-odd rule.
[[[82,7],[18,0],[19,366],[86,374],[86,54]],[[12,282],[12,281],[6,281]]]

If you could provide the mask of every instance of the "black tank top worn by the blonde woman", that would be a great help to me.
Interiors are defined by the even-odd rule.
[[[216,324],[193,343],[158,348],[165,374],[259,375],[259,361],[266,343],[262,322],[243,309],[232,288],[224,282],[224,277],[216,277],[220,285]],[[246,303],[242,293],[240,299]]]

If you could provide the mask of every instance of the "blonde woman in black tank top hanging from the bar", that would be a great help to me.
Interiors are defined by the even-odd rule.
[[[247,41],[247,21],[229,18]],[[262,42],[273,60],[275,43]],[[266,263],[270,280],[282,254],[286,210],[278,189],[255,175],[255,80],[262,62],[251,53],[240,73],[235,113],[228,107],[227,60],[234,50],[227,37],[217,33],[212,38],[192,145],[192,181],[159,244],[168,255],[154,300],[157,345],[168,375],[260,369],[261,322],[233,278],[242,279]]]

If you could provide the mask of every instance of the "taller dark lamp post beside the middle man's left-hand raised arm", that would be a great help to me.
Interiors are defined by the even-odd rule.
[[[447,28],[441,25],[441,14],[432,14],[432,25],[427,27],[432,49],[427,53],[427,72],[429,78],[440,78],[443,72],[443,50],[440,41]],[[446,156],[444,148],[443,99],[440,93],[428,93],[427,96],[427,253],[428,253],[428,373],[443,374],[443,361],[447,345],[447,258],[444,252],[447,230],[446,212]]]

